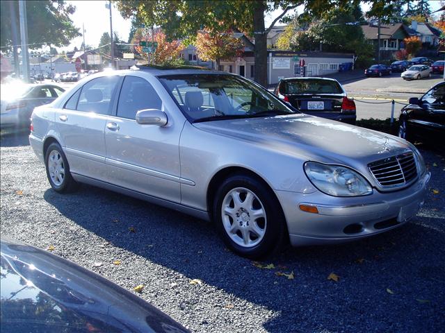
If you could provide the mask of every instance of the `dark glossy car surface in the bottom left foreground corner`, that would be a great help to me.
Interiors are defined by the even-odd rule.
[[[133,293],[51,253],[1,239],[1,332],[188,332]]]

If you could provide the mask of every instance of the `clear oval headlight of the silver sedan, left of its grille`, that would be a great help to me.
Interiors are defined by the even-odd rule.
[[[305,172],[317,189],[331,196],[366,196],[373,193],[364,177],[346,167],[306,162]]]

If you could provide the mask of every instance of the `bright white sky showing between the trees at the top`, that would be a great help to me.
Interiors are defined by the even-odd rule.
[[[80,28],[82,31],[82,24],[85,24],[85,42],[87,45],[97,46],[99,45],[100,37],[103,33],[110,33],[110,16],[109,10],[105,8],[105,4],[108,1],[67,1],[67,3],[71,3],[76,6],[76,12],[71,16],[74,26]],[[440,8],[440,1],[438,0],[430,0],[430,8],[432,11],[435,11]],[[362,5],[362,10],[367,10],[369,6],[366,4]],[[300,12],[302,10],[302,6],[298,8]],[[280,10],[275,10],[274,12],[270,12],[266,15],[266,26],[269,26],[270,22],[275,19],[278,15],[280,15]],[[118,33],[118,36],[121,40],[127,41],[131,22],[129,19],[124,19],[120,12],[113,6],[112,10],[113,16],[113,32]],[[61,48],[60,50],[68,51],[72,50],[74,46],[77,46],[80,49],[82,44],[82,37],[77,37],[72,40],[70,46],[66,46]]]

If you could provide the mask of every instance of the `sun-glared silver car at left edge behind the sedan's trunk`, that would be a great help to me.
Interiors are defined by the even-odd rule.
[[[1,87],[0,127],[29,126],[36,106],[51,103],[65,89],[58,85],[14,84]]]

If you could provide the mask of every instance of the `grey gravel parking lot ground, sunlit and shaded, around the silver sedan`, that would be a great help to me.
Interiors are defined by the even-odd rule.
[[[1,236],[54,246],[124,288],[143,284],[142,298],[193,332],[444,332],[445,160],[421,152],[430,189],[402,228],[259,264],[190,216],[86,185],[56,194],[26,133],[4,135]]]

